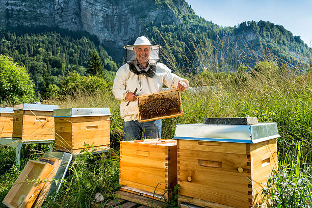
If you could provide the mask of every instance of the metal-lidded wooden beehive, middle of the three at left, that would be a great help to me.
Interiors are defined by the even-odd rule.
[[[53,140],[55,105],[28,104],[14,106],[13,137],[20,140]]]

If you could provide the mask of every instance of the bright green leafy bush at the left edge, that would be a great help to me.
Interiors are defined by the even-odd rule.
[[[0,99],[11,104],[31,102],[35,98],[34,84],[25,67],[13,62],[13,59],[0,55]]]

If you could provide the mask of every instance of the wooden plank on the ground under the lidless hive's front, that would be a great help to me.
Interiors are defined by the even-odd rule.
[[[161,208],[164,206],[164,203],[161,201],[153,200],[144,196],[128,193],[125,191],[116,191],[114,192],[114,195],[116,195],[118,198],[125,199],[127,201],[132,201],[148,207]]]

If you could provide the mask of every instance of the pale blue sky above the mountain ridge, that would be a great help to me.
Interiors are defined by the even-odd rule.
[[[283,25],[312,46],[312,0],[186,0],[195,13],[223,27],[243,21]]]

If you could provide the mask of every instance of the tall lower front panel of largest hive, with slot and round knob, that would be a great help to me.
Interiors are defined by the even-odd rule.
[[[246,154],[179,149],[177,155],[181,195],[237,207],[249,206],[251,167]],[[239,168],[243,171],[239,172]]]

